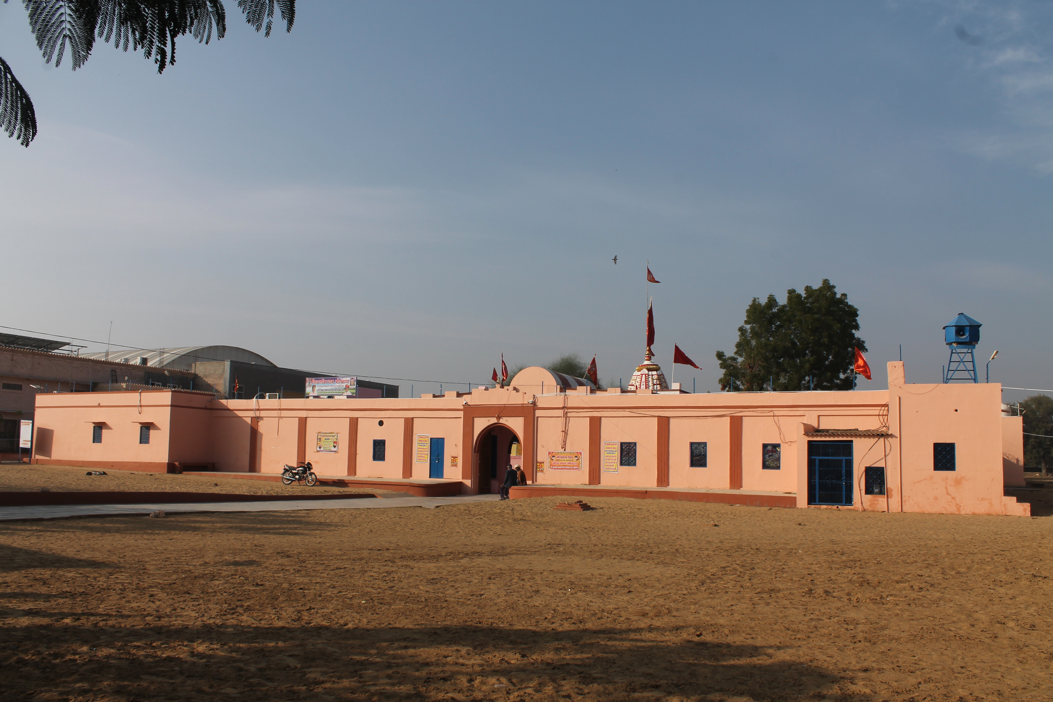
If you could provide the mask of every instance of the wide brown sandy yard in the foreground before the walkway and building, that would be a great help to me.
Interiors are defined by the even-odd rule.
[[[0,525],[0,700],[1053,699],[1053,518],[596,499]]]

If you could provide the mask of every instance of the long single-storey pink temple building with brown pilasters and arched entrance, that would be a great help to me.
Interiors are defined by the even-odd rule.
[[[1024,485],[1024,436],[1000,386],[888,373],[889,389],[865,392],[688,394],[664,377],[597,390],[530,367],[504,388],[409,399],[38,395],[32,460],[260,478],[307,460],[322,478],[446,495],[496,493],[521,465],[513,497],[1029,515],[1005,495]]]

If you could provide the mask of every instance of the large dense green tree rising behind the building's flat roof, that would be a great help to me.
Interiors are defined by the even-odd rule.
[[[787,290],[782,304],[769,295],[753,298],[746,323],[738,327],[735,355],[718,350],[720,388],[762,390],[852,389],[855,349],[867,350],[856,336],[859,310],[848,296],[823,279],[804,293]]]

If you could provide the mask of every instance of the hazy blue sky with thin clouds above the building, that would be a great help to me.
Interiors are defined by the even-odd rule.
[[[658,361],[678,343],[699,390],[751,298],[822,278],[861,388],[899,344],[936,382],[959,312],[992,380],[1053,387],[1049,2],[301,0],[269,39],[226,5],[158,76],[102,43],[45,65],[0,4],[40,123],[0,139],[0,323],[449,381],[598,353],[628,381],[650,259]]]

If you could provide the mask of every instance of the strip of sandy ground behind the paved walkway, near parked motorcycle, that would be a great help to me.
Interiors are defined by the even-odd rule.
[[[60,490],[157,490],[163,493],[237,493],[240,495],[329,495],[346,493],[385,493],[366,487],[314,487],[293,483],[242,478],[224,478],[222,473],[211,476],[176,476],[165,473],[133,473],[106,470],[104,476],[84,475],[97,468],[61,465],[0,464],[0,490],[37,492],[43,487]]]

